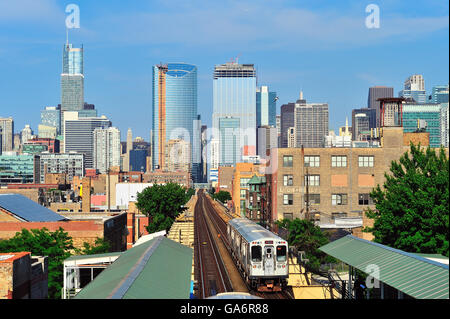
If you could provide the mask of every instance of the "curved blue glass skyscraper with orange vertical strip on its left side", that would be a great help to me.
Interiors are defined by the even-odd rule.
[[[197,67],[186,63],[153,66],[153,169],[166,170],[166,145],[169,140],[183,139],[194,143],[197,120]],[[191,147],[191,154],[197,152]],[[194,160],[194,156],[191,155]],[[196,158],[196,157],[195,157]],[[193,172],[193,180],[200,178]]]

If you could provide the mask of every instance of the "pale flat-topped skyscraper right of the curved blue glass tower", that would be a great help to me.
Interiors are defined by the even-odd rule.
[[[234,62],[216,65],[213,76],[212,138],[228,144],[219,146],[219,165],[235,164],[241,161],[242,156],[256,154],[256,122],[254,65]],[[235,132],[234,136],[239,135],[239,139],[235,136],[227,140],[217,136],[223,132],[229,137],[231,130]],[[233,143],[232,147],[230,143]]]

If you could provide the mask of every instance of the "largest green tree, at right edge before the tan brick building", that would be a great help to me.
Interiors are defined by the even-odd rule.
[[[374,241],[415,253],[449,255],[449,163],[443,148],[421,149],[411,144],[399,161],[392,161],[383,188],[370,196],[375,210],[366,216],[373,227],[364,231]]]

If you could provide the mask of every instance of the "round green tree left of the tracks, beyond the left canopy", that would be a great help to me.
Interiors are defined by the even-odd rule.
[[[150,217],[149,233],[166,230],[186,207],[186,191],[176,183],[153,185],[137,195],[136,207]]]

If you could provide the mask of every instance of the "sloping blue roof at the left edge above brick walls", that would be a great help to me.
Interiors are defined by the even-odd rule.
[[[66,220],[61,215],[20,194],[0,194],[0,209],[28,222],[54,222]]]

